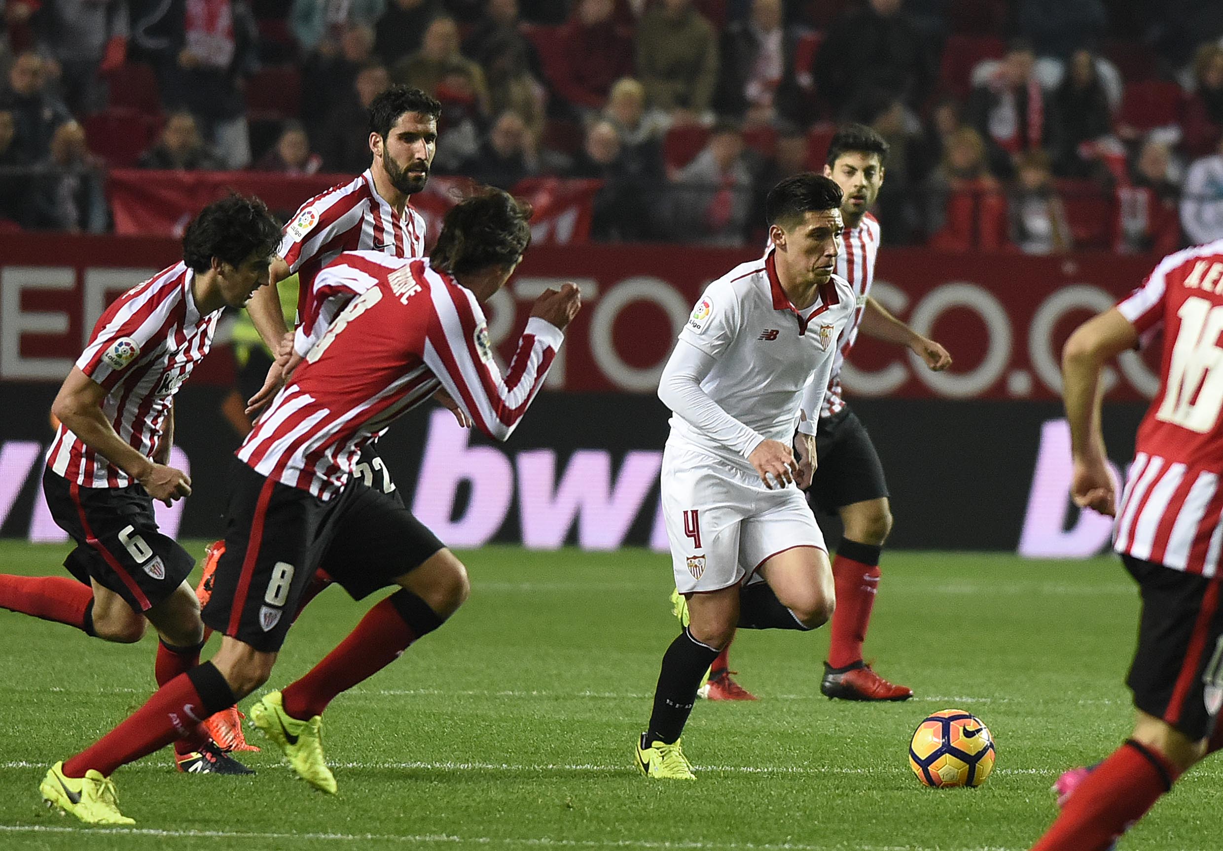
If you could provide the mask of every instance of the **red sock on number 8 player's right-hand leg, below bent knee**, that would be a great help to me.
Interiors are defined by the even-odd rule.
[[[388,597],[327,658],[285,687],[285,712],[302,720],[322,715],[331,698],[395,661],[413,641],[416,633]]]

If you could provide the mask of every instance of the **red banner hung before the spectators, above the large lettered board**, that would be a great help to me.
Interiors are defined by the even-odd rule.
[[[275,175],[259,171],[144,171],[114,169],[109,174],[110,209],[120,236],[182,236],[191,218],[209,202],[229,192],[254,194],[285,216],[336,183],[344,175]],[[464,177],[432,177],[424,192],[412,196],[412,207],[424,216],[429,234],[470,188]],[[514,194],[534,207],[531,231],[537,245],[586,242],[591,232],[592,201],[599,181],[532,179],[514,187]]]

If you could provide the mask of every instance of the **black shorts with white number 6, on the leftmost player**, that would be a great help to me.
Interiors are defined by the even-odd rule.
[[[196,560],[169,536],[153,514],[153,498],[139,484],[82,488],[48,467],[43,472],[46,507],[76,542],[64,566],[86,584],[98,584],[144,613],[172,594]]]

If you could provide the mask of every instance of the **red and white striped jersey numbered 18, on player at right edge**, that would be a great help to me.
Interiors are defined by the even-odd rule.
[[[1113,545],[1216,576],[1223,547],[1223,240],[1169,254],[1117,307],[1144,340],[1162,328],[1163,352]]]

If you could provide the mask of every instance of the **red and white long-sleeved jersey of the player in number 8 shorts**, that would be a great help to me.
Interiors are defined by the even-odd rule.
[[[320,499],[340,492],[362,446],[438,388],[482,432],[505,440],[564,341],[531,318],[503,378],[476,297],[428,260],[346,252],[318,276],[320,286],[371,280],[237,450],[258,473]]]

